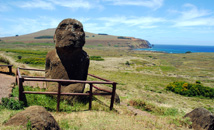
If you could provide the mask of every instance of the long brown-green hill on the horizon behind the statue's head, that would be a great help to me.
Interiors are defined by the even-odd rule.
[[[3,37],[4,42],[24,42],[24,43],[53,43],[55,28],[41,30],[35,33]],[[43,38],[42,38],[43,37]],[[44,38],[48,37],[48,38]],[[38,38],[38,39],[37,39]],[[126,49],[149,48],[150,43],[143,39],[134,37],[113,36],[108,34],[94,34],[86,32],[86,47],[122,47]]]

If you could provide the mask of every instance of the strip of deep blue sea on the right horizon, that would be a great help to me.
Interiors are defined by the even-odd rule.
[[[186,53],[214,52],[214,46],[194,46],[194,45],[154,45],[152,48],[139,48],[141,51],[158,51],[165,53]]]

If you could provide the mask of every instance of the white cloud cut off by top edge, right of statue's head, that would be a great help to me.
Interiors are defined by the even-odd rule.
[[[163,5],[164,0],[105,0],[113,2],[114,5],[144,6],[158,9]]]

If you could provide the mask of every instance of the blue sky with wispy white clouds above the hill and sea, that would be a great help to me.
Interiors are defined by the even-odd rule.
[[[0,37],[56,28],[66,18],[84,31],[151,44],[214,46],[214,0],[0,0]]]

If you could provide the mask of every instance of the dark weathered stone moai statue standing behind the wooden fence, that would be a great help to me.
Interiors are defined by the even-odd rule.
[[[55,49],[46,56],[45,77],[51,79],[86,80],[89,56],[82,49],[85,44],[85,32],[81,22],[64,19],[54,34]],[[83,93],[85,84],[62,83],[61,92]],[[57,83],[48,83],[48,91],[58,91]],[[72,96],[62,96],[72,101]]]

